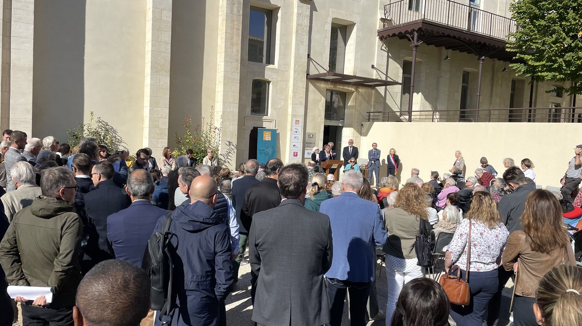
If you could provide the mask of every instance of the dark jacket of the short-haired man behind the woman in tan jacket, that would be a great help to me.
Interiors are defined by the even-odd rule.
[[[505,195],[499,202],[501,221],[508,228],[509,233],[523,230],[519,217],[526,209],[526,197],[535,190],[535,184],[523,184],[517,187],[511,194]]]

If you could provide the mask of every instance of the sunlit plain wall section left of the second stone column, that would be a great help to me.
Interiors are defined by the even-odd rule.
[[[104,118],[133,153],[143,146],[145,5],[98,0],[86,9],[84,119]]]

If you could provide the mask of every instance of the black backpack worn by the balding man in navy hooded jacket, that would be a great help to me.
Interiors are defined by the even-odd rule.
[[[166,214],[162,222],[162,230],[151,235],[142,261],[142,268],[150,275],[151,310],[161,310],[160,321],[162,316],[169,316],[173,301],[172,253],[175,249],[170,242],[173,237],[173,233],[169,231],[172,223],[171,216],[172,212]]]

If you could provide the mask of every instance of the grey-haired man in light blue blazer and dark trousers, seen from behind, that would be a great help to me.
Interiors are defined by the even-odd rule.
[[[320,212],[329,216],[333,235],[332,264],[325,274],[331,326],[342,324],[348,288],[352,325],[366,324],[366,304],[375,274],[375,247],[386,242],[378,204],[358,195],[363,184],[361,173],[347,171],[343,175],[343,193],[321,203]]]

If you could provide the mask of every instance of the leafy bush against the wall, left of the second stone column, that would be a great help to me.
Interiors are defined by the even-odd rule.
[[[97,117],[91,111],[89,121],[87,123],[79,123],[74,129],[67,130],[69,135],[69,146],[78,146],[81,139],[85,137],[93,137],[97,139],[97,144],[104,144],[109,149],[109,152],[118,151],[122,149],[123,145],[127,145],[119,136],[119,132],[113,128],[107,121]]]

